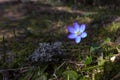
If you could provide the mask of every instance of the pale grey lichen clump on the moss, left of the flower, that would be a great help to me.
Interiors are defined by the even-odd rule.
[[[30,56],[30,60],[32,62],[57,61],[58,57],[63,55],[61,46],[61,42],[40,43],[39,47]]]

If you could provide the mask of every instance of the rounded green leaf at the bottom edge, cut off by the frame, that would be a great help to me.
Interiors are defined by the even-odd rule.
[[[65,80],[77,80],[78,74],[73,70],[67,70],[63,72],[63,77],[65,78]]]

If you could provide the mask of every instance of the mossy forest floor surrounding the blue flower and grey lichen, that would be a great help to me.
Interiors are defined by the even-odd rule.
[[[103,64],[98,65],[93,63],[86,65],[84,68],[66,63],[63,68],[58,70],[58,79],[62,80],[65,77],[64,75],[68,74],[64,72],[66,70],[75,71],[70,71],[75,76],[74,80],[79,80],[80,78],[80,80],[110,80],[120,72],[119,62],[116,64],[111,63],[109,60],[111,56],[118,53],[116,47],[120,49],[119,45],[115,44],[116,39],[120,37],[120,10],[93,6],[74,5],[70,7],[66,5],[46,5],[43,3],[4,4],[0,8],[5,13],[1,14],[0,19],[0,48],[3,49],[0,54],[3,57],[5,56],[3,59],[0,58],[0,68],[31,66],[31,63],[27,61],[27,57],[40,42],[61,41],[63,48],[68,50],[70,55],[68,60],[75,61],[74,64],[84,62],[86,56],[92,56],[95,58],[95,61],[101,57],[101,53],[104,56],[102,60],[98,61],[98,63],[103,62]],[[72,25],[75,21],[87,25],[86,32],[88,36],[80,44],[75,44],[67,38],[67,26]],[[113,45],[102,45],[108,37],[111,39]],[[91,52],[91,47],[100,48]],[[11,57],[14,58],[9,61]],[[43,66],[46,66],[45,69],[41,66],[43,72],[40,71],[40,67],[37,65],[35,66],[35,70],[29,70],[22,74],[19,80],[25,80],[31,76],[32,80],[37,80],[40,76],[41,80],[46,78],[46,76],[52,79],[53,76],[50,74],[53,71],[49,69],[48,65],[52,67],[52,70],[55,70],[60,63],[44,64]],[[81,71],[85,72],[85,74],[82,75]],[[62,76],[63,72],[64,74]],[[73,78],[70,77],[70,79]]]

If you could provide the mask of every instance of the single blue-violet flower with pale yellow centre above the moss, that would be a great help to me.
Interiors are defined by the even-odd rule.
[[[70,32],[68,38],[74,39],[76,43],[80,43],[82,38],[87,37],[85,28],[86,28],[85,24],[79,25],[77,22],[74,22],[73,26],[68,26],[68,31]]]

